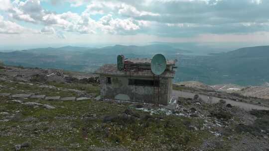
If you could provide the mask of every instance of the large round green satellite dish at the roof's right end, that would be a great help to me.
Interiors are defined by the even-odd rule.
[[[154,75],[161,75],[166,69],[166,59],[162,54],[156,54],[151,59],[151,71]]]

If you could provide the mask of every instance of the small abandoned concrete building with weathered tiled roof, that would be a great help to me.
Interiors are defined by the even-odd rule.
[[[164,72],[155,75],[151,59],[125,59],[119,55],[118,64],[105,64],[96,71],[100,76],[101,99],[167,105],[176,61],[165,59]]]

